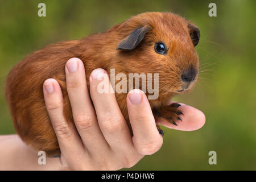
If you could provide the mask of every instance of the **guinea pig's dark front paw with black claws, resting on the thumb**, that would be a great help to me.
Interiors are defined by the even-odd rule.
[[[155,117],[167,119],[167,121],[177,126],[175,120],[182,121],[180,115],[184,115],[179,109],[177,109],[179,106],[180,104],[175,102],[175,103],[172,103],[171,105],[162,106],[158,109],[153,109],[152,112]]]

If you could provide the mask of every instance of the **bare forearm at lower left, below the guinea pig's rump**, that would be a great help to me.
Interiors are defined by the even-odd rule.
[[[18,135],[0,136],[0,170],[61,170],[59,158],[46,158],[46,164],[38,164],[37,152]]]

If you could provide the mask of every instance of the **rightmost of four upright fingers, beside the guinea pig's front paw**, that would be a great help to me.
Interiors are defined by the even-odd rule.
[[[154,154],[163,144],[162,135],[156,129],[150,104],[142,90],[131,90],[127,95],[127,109],[133,129],[133,143],[142,155]]]

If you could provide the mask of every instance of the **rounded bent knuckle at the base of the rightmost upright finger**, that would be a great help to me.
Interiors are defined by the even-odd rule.
[[[137,144],[136,149],[139,154],[151,155],[157,152],[162,146],[162,142],[159,140],[151,140],[144,144]]]

